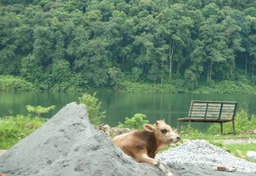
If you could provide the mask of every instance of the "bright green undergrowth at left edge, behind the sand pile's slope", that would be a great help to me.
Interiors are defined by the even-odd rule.
[[[0,149],[9,149],[46,122],[43,118],[17,115],[0,118]]]

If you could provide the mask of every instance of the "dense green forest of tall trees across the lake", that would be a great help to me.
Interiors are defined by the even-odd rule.
[[[1,0],[0,74],[42,90],[256,84],[254,0]]]

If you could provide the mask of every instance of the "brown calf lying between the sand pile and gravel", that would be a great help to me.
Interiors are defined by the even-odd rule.
[[[163,120],[154,125],[146,124],[144,129],[116,136],[113,139],[114,145],[137,162],[149,163],[157,166],[166,175],[173,175],[154,156],[171,142],[178,142],[180,137]]]

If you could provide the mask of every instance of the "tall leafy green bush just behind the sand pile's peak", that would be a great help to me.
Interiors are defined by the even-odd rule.
[[[106,111],[102,111],[102,102],[96,97],[96,92],[93,95],[82,94],[79,101],[86,105],[90,123],[98,126],[102,122],[102,118],[106,118]]]

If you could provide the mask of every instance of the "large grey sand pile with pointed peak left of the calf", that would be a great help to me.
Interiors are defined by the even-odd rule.
[[[72,102],[0,156],[10,175],[163,175],[138,164],[90,125],[86,107]]]

